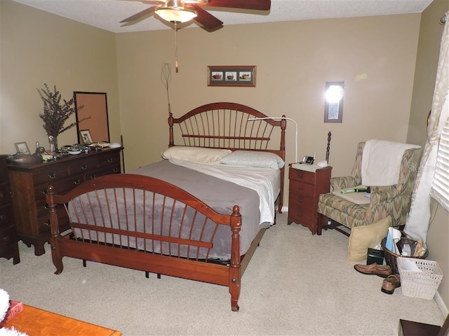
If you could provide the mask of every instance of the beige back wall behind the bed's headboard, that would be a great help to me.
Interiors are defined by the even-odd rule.
[[[333,174],[349,173],[356,143],[370,138],[406,141],[420,15],[279,22],[178,31],[117,34],[121,130],[129,169],[160,159],[168,144],[161,64],[172,64],[173,114],[208,102],[253,106],[299,124],[299,154],[323,160],[333,133]],[[313,33],[312,33],[313,32]],[[208,87],[208,65],[256,65],[256,87]],[[365,79],[363,74],[366,74]],[[326,81],[344,80],[342,124],[323,123]],[[136,123],[135,120],[139,120]],[[294,126],[288,123],[287,161]]]

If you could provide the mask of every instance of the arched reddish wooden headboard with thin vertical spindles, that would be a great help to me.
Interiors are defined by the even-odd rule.
[[[267,116],[249,106],[229,102],[199,106],[180,118],[173,118],[170,113],[168,146],[269,151],[276,153],[285,161],[287,121],[285,119],[248,120],[252,118],[267,118]],[[276,139],[279,142],[276,142]],[[282,168],[279,213],[281,213],[283,200],[284,171],[285,169]]]

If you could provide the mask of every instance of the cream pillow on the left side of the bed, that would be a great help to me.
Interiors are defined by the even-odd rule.
[[[222,158],[231,152],[229,149],[173,146],[162,153],[162,158],[219,165]]]

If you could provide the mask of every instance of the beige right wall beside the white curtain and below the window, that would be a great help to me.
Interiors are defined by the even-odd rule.
[[[415,83],[407,140],[424,146],[427,115],[431,108],[435,87],[436,67],[443,25],[439,19],[449,10],[448,0],[436,0],[424,10],[421,18],[420,38],[417,48]],[[427,235],[429,259],[438,261],[444,277],[438,293],[445,307],[449,307],[449,216],[448,212],[432,201],[431,225]]]

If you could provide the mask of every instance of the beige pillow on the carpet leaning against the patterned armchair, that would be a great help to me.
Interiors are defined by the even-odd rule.
[[[380,241],[387,237],[391,225],[391,216],[370,225],[356,226],[351,229],[348,245],[348,259],[351,261],[366,260],[368,247],[380,246]]]

